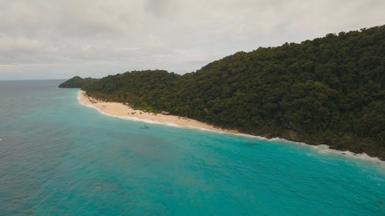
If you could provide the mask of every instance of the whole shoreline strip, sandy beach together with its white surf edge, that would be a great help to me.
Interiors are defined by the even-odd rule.
[[[161,113],[152,113],[152,112],[143,112],[141,110],[134,110],[130,106],[124,105],[123,103],[103,102],[103,101],[96,100],[92,97],[88,97],[86,92],[83,90],[78,91],[78,102],[87,107],[94,108],[103,114],[113,116],[113,117],[118,117],[124,120],[142,121],[145,123],[162,124],[166,126],[179,127],[179,128],[185,128],[185,129],[208,130],[208,131],[214,131],[218,133],[228,133],[228,134],[233,134],[233,135],[243,136],[248,138],[255,138],[255,139],[265,139],[265,140],[271,140],[271,141],[280,140],[284,142],[295,143],[298,145],[310,146],[316,149],[316,151],[319,154],[336,154],[344,157],[358,158],[367,162],[375,163],[377,165],[380,165],[381,167],[385,167],[385,161],[380,160],[379,157],[370,157],[366,153],[353,153],[348,150],[347,151],[336,150],[333,148],[329,148],[329,146],[325,144],[310,145],[305,142],[292,141],[289,139],[281,139],[281,138],[268,139],[261,136],[240,133],[238,130],[224,130],[202,121],[196,121],[196,120],[183,118],[176,115],[166,115]]]

